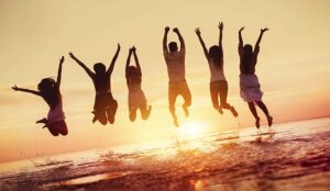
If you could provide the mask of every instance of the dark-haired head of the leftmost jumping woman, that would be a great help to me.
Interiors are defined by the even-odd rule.
[[[55,106],[58,102],[58,91],[56,90],[56,81],[52,78],[44,78],[37,85],[37,90],[48,104]]]

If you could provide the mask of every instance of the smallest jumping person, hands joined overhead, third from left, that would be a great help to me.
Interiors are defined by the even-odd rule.
[[[130,66],[132,54],[134,55],[134,60],[136,66]],[[136,110],[139,109],[142,119],[147,120],[152,106],[151,105],[147,106],[145,96],[141,89],[142,72],[141,72],[141,67],[136,55],[136,49],[134,46],[129,50],[129,56],[128,56],[127,67],[125,67],[125,77],[127,77],[127,85],[129,88],[130,120],[132,122],[135,121]]]

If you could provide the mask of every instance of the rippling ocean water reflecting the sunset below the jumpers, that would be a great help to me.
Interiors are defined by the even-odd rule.
[[[0,190],[330,190],[330,117],[0,165]]]

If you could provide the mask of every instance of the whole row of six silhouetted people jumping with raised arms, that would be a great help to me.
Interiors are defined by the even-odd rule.
[[[222,48],[222,31],[223,23],[219,23],[219,44],[211,46],[207,49],[207,46],[201,37],[201,32],[197,27],[195,30],[197,37],[202,46],[205,56],[208,60],[210,69],[210,94],[211,101],[215,110],[219,113],[223,113],[222,109],[229,110],[234,117],[238,116],[238,112],[227,102],[228,96],[228,81],[223,72],[223,48]],[[262,101],[263,92],[261,91],[258,79],[255,75],[255,65],[257,63],[257,55],[260,52],[260,42],[263,37],[264,32],[268,29],[262,29],[258,40],[254,48],[250,45],[243,44],[242,31],[239,31],[239,55],[240,55],[240,88],[241,97],[248,102],[249,109],[251,110],[253,116],[255,117],[255,126],[260,127],[260,117],[256,113],[255,104],[261,108],[265,113],[268,126],[273,124],[273,117],[270,115],[266,105]],[[169,78],[168,82],[168,104],[169,111],[173,116],[175,126],[179,126],[178,119],[175,112],[176,98],[182,96],[184,98],[183,110],[185,116],[189,116],[188,108],[191,105],[191,93],[185,77],[185,55],[186,46],[184,37],[182,36],[177,27],[173,29],[173,32],[177,34],[180,47],[176,42],[170,42],[167,45],[167,35],[169,27],[165,27],[165,33],[163,37],[163,53],[165,63],[167,66],[167,74]],[[109,68],[102,64],[97,63],[94,65],[94,71],[90,70],[81,60],[79,60],[73,53],[69,56],[84,68],[87,75],[91,78],[96,91],[95,104],[94,104],[94,119],[92,122],[99,121],[101,124],[106,125],[108,122],[110,124],[114,123],[114,116],[118,109],[118,102],[112,97],[111,93],[111,74],[114,68],[116,60],[120,52],[120,45],[118,44],[117,52],[110,63]],[[131,56],[134,57],[135,66],[131,66]],[[37,91],[19,88],[16,86],[12,87],[15,91],[23,91],[38,96],[45,100],[50,106],[50,112],[47,117],[36,121],[36,123],[43,123],[44,127],[47,127],[52,135],[67,135],[67,125],[65,123],[65,114],[63,111],[63,102],[61,94],[61,78],[62,78],[62,66],[64,63],[64,56],[59,60],[57,80],[52,78],[44,78],[37,85]],[[144,92],[141,89],[142,82],[142,71],[136,55],[135,46],[129,49],[129,55],[125,65],[125,78],[127,86],[129,89],[129,117],[130,121],[135,121],[136,112],[140,110],[141,117],[147,120],[152,106],[147,104]],[[220,103],[219,103],[220,101]]]

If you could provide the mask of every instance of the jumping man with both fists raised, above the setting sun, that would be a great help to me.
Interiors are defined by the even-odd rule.
[[[163,52],[165,61],[167,65],[167,74],[169,78],[168,82],[168,102],[169,102],[169,111],[172,113],[174,124],[176,126],[179,126],[177,116],[175,114],[175,102],[177,96],[182,96],[185,100],[185,103],[183,104],[183,109],[185,111],[185,115],[189,115],[188,106],[191,105],[191,93],[188,88],[188,85],[186,82],[185,78],[185,55],[186,55],[186,47],[185,47],[185,41],[179,33],[178,29],[173,29],[173,32],[175,32],[178,35],[179,42],[180,42],[180,49],[178,50],[177,44],[175,42],[170,42],[168,44],[169,52],[167,49],[167,34],[168,34],[169,27],[165,27],[165,34],[163,38]]]

